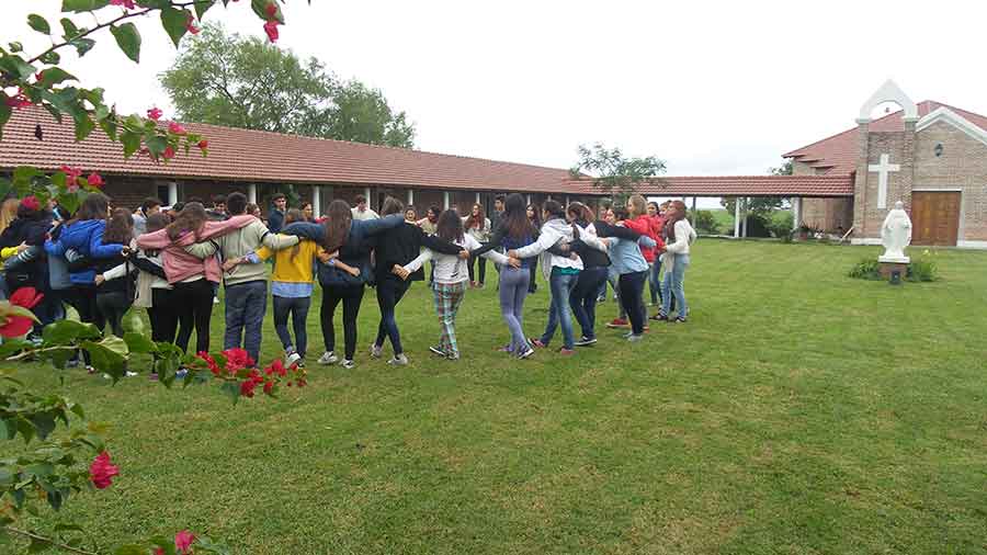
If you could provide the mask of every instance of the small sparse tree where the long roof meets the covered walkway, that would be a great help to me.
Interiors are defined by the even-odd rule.
[[[580,145],[579,162],[569,170],[572,179],[580,179],[583,172],[593,175],[593,186],[614,199],[633,194],[642,183],[653,182],[665,173],[665,161],[654,156],[625,158],[620,148],[608,149],[601,143],[592,148]]]

